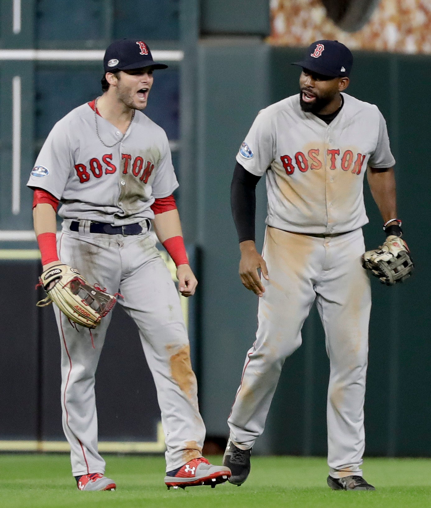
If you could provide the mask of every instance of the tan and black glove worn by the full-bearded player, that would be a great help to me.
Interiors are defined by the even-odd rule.
[[[364,253],[362,266],[386,285],[403,282],[414,268],[407,243],[395,235],[389,235],[378,249]]]

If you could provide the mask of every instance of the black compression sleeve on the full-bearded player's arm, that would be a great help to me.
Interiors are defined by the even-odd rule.
[[[230,207],[240,242],[255,240],[256,185],[260,178],[239,163],[235,166],[230,184]]]

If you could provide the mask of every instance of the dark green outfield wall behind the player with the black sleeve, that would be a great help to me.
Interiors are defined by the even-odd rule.
[[[257,298],[238,278],[239,250],[229,209],[235,155],[258,110],[296,93],[301,50],[260,43],[201,43],[198,75],[198,238],[202,247],[201,407],[210,435],[227,433],[226,417],[254,340]],[[396,288],[372,281],[370,367],[366,400],[369,455],[431,455],[431,340],[429,333],[429,220],[431,178],[427,100],[431,58],[355,53],[349,93],[384,114],[397,160],[399,215],[416,264]],[[258,185],[261,246],[265,189]],[[367,246],[383,239],[381,219],[366,184]],[[286,363],[267,429],[256,445],[266,453],[326,453],[328,361],[317,312],[304,343]]]

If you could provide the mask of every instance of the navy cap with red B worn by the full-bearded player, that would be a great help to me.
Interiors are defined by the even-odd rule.
[[[323,39],[311,44],[300,62],[293,62],[303,69],[332,78],[348,76],[352,70],[353,55],[350,49],[338,41]]]

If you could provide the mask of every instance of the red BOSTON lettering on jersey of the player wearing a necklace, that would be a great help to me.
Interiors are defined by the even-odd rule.
[[[154,164],[151,161],[144,161],[142,157],[138,156],[135,157],[132,162],[132,156],[128,153],[122,153],[121,159],[124,161],[124,175],[131,172],[134,176],[139,178],[141,182],[148,182],[154,169]],[[88,165],[75,164],[75,170],[80,183],[84,183],[88,182],[91,175],[95,178],[100,178],[104,173],[106,175],[112,175],[117,171],[117,168],[112,163],[112,153],[105,153],[105,155],[102,156],[102,162],[97,157],[92,157]]]

